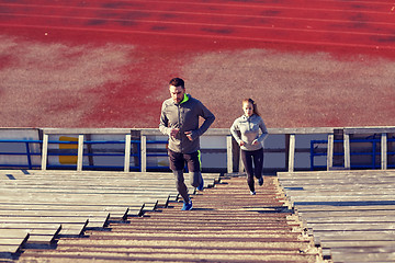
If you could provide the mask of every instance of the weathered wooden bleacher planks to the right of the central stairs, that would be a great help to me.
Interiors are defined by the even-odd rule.
[[[395,262],[395,171],[287,172],[278,180],[334,262]]]

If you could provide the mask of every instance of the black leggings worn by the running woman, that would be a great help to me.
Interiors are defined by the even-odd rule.
[[[255,151],[241,150],[241,160],[247,172],[247,183],[250,191],[255,191],[253,175],[257,179],[262,178],[263,169],[263,148]],[[253,162],[253,168],[252,168]]]

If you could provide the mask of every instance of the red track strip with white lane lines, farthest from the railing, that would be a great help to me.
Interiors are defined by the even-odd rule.
[[[263,42],[394,49],[394,5],[385,1],[335,0],[2,1],[0,25],[123,36],[188,36],[255,45]]]

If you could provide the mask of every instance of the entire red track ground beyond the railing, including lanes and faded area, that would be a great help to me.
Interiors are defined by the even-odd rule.
[[[21,81],[16,73],[14,79],[2,82],[3,87],[1,87],[0,93],[4,94],[2,100],[7,103],[2,103],[1,111],[5,113],[5,117],[3,114],[3,118],[0,121],[5,126],[157,127],[160,103],[167,98],[167,91],[162,88],[173,76],[193,79],[191,73],[187,72],[192,70],[188,68],[189,65],[193,67],[196,64],[196,56],[204,57],[210,53],[221,54],[229,50],[238,53],[255,48],[278,50],[284,54],[302,52],[306,56],[325,52],[340,60],[347,60],[359,54],[392,60],[395,57],[394,21],[395,3],[392,1],[0,0],[0,31],[2,35],[16,37],[12,41],[16,42],[15,45],[21,46],[21,52],[18,54],[9,50],[1,56],[0,69],[3,70],[4,76],[10,76],[7,70],[14,69],[15,60],[24,61],[27,58],[29,62],[21,62],[18,66],[21,68],[19,70],[26,70],[25,67],[29,65],[49,70],[43,73],[46,73],[45,80],[43,80],[44,77],[36,77],[43,71],[41,70],[32,73],[33,76],[30,77],[32,80],[26,81],[27,84]],[[119,61],[120,66],[116,67],[116,70],[114,69],[122,77],[92,84],[92,78],[103,77],[103,72],[111,68],[104,69],[102,66],[100,66],[101,68],[98,66],[82,76],[72,76],[67,70],[56,71],[61,67],[70,69],[74,64],[77,65],[76,59],[82,58],[82,55],[88,54],[89,49],[102,47],[109,43],[112,44],[111,46],[115,46],[115,44],[131,45],[136,50],[128,62]],[[60,57],[61,61],[58,64],[43,65],[53,58],[38,58],[45,56],[45,49],[55,48],[56,44],[68,46],[71,55],[64,52]],[[7,46],[7,42],[4,45]],[[25,49],[32,52],[29,46],[35,46],[37,54],[24,54]],[[79,50],[79,47],[84,50]],[[114,50],[105,52],[105,54],[111,57],[112,52]],[[27,56],[27,58],[23,56]],[[35,61],[32,57],[37,57],[40,61]],[[235,55],[235,57],[237,56]],[[368,57],[359,59],[368,61]],[[191,61],[192,58],[195,59],[194,64]],[[100,60],[98,57],[94,59]],[[94,59],[90,61],[97,62]],[[122,60],[122,58],[116,59]],[[224,65],[222,69],[230,67],[233,64],[240,64],[240,61],[234,62],[226,59],[226,61],[217,61]],[[261,58],[257,57],[257,59]],[[235,72],[247,68],[247,64],[250,61],[244,62],[246,65],[236,67]],[[88,62],[81,61],[82,66],[79,67],[83,67]],[[375,61],[371,64],[375,64]],[[210,67],[212,65],[213,62],[210,64]],[[53,73],[50,73],[52,67],[54,67]],[[210,82],[215,76],[210,70],[221,70],[208,69],[210,67],[203,66],[196,71],[199,73],[192,71],[196,75],[195,78]],[[368,66],[362,65],[362,67],[361,70],[365,70]],[[280,75],[276,79],[286,79],[292,73],[304,72],[303,69],[298,73],[293,72],[294,70],[280,70],[280,73],[283,71],[283,76]],[[16,71],[14,69],[13,72]],[[65,76],[60,78],[57,75]],[[230,75],[234,73],[230,72]],[[256,78],[257,83],[260,83],[259,75],[261,72],[248,78]],[[336,78],[332,79],[339,78],[338,75],[336,73]],[[315,76],[315,72],[312,71],[308,76]],[[296,77],[294,79],[297,79]],[[54,92],[56,94],[52,94],[49,98],[47,91],[41,91],[43,82],[56,83],[59,79],[65,82],[65,79],[68,78],[76,78],[80,85],[88,88],[78,91],[78,95],[72,90],[75,88],[69,88],[69,90],[64,88]],[[341,78],[348,77],[342,76]],[[327,94],[327,98],[312,98],[311,94],[316,92],[314,89],[317,87],[313,87],[312,91],[305,89],[304,85],[311,85],[311,81],[307,81],[302,85],[301,93],[295,94],[286,91],[285,88],[283,88],[284,90],[256,88],[266,89],[260,95],[261,98],[279,98],[275,100],[263,98],[258,101],[272,108],[269,119],[266,118],[270,126],[393,125],[387,115],[382,118],[369,115],[370,112],[393,108],[392,95],[386,96],[385,100],[380,99],[382,93],[386,94],[388,90],[391,91],[391,87],[384,87],[381,92],[374,92],[376,96],[373,94],[371,100],[374,101],[376,107],[364,112],[368,99],[354,98],[372,95],[370,80],[366,81],[366,87],[361,88],[360,83],[352,87],[350,82],[354,77],[349,76],[349,78],[350,80],[347,80],[345,85],[350,90],[347,92],[334,91],[329,95]],[[381,76],[377,78],[380,79]],[[382,78],[386,78],[386,76]],[[290,82],[294,82],[294,79],[290,79]],[[196,79],[194,81],[198,84]],[[319,81],[328,80],[315,80],[315,82]],[[18,84],[14,85],[15,83]],[[228,91],[236,83],[239,84],[232,78],[225,78],[217,87],[223,91]],[[255,82],[252,85],[257,85],[257,83]],[[275,84],[272,83],[273,87]],[[50,90],[52,84],[47,85]],[[328,82],[327,87],[332,88],[334,85]],[[236,85],[234,89],[239,88]],[[36,91],[33,93],[34,95],[26,96],[25,94],[32,90]],[[356,95],[354,92],[359,91],[365,95]],[[219,104],[212,99],[214,94],[204,92],[199,96],[203,101],[207,101],[208,105],[218,113],[216,127],[228,127],[235,115],[239,114],[238,106],[221,108]],[[246,95],[252,94],[253,96],[260,94],[259,92],[259,90],[253,90],[252,93],[246,92]],[[326,94],[326,92],[317,93]],[[234,93],[230,91],[223,92],[223,94],[227,94],[227,96],[219,95],[230,105],[239,100],[239,98],[234,98],[232,95]],[[339,96],[343,101],[340,99],[336,101],[334,94],[340,94]],[[291,100],[289,98],[295,96],[300,99],[300,102],[287,101]],[[30,100],[27,101],[26,98]],[[10,103],[11,100],[19,101],[18,110]],[[317,106],[316,104],[319,104],[316,102],[317,100],[330,100],[330,105],[327,107],[324,105],[324,108],[323,105]],[[353,106],[345,105],[347,100]],[[223,112],[228,113],[229,116]],[[349,118],[341,115],[345,112],[361,113],[366,117]],[[316,116],[315,113],[318,115]],[[328,115],[331,116],[326,117]],[[273,117],[270,118],[271,116]]]

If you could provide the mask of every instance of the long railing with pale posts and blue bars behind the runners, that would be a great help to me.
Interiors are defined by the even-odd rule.
[[[5,129],[5,128],[4,128]],[[0,129],[1,130],[1,129]],[[33,130],[33,129],[32,129]],[[0,139],[1,144],[20,144],[22,147],[19,147],[19,151],[1,151],[0,156],[25,156],[26,163],[0,163],[0,167],[3,168],[27,168],[27,169],[76,169],[77,171],[82,171],[82,169],[116,169],[123,170],[124,172],[128,172],[131,170],[145,172],[147,169],[157,169],[158,167],[147,167],[147,158],[150,157],[166,157],[167,156],[167,139],[159,133],[158,129],[34,129],[40,134],[40,139]],[[335,140],[335,130],[337,135],[341,134],[342,140]],[[340,132],[340,133],[339,133]],[[136,133],[138,134],[136,136]],[[132,134],[134,134],[134,139],[132,140]],[[284,135],[285,137],[285,148],[281,150],[284,152],[285,160],[285,169],[287,171],[294,171],[295,168],[295,152],[296,151],[296,136],[298,135],[326,135],[326,140],[320,140],[320,144],[326,144],[326,151],[318,152],[317,155],[312,151],[312,167],[315,167],[314,158],[316,156],[326,156],[326,169],[334,169],[334,157],[339,157],[343,155],[343,169],[356,168],[356,165],[351,165],[350,156],[358,155],[357,152],[350,152],[350,144],[354,144],[356,140],[350,140],[350,135],[380,135],[381,138],[373,138],[371,142],[375,147],[376,144],[381,144],[380,155],[376,148],[373,149],[370,153],[361,153],[361,155],[372,155],[373,164],[371,167],[366,165],[366,168],[379,168],[379,162],[376,162],[376,158],[381,157],[380,167],[381,169],[393,168],[393,164],[388,165],[387,157],[394,156],[395,152],[387,151],[387,144],[394,141],[393,138],[387,138],[388,134],[395,134],[395,127],[359,127],[359,128],[269,128],[269,135]],[[59,136],[59,135],[76,135],[78,138],[75,140],[54,140],[49,139],[49,136]],[[99,140],[99,139],[90,139],[92,135],[116,135],[117,138],[120,136],[124,136],[124,139],[108,139],[108,140]],[[228,129],[210,129],[204,136],[221,136],[226,137],[226,142],[224,142],[224,151],[226,152],[226,162],[227,172],[239,171],[240,162],[239,162],[239,151],[237,146],[235,146],[232,136],[229,135]],[[270,136],[269,136],[270,137]],[[88,138],[88,139],[87,139]],[[165,138],[165,139],[163,139]],[[334,152],[334,145],[342,142],[343,150],[341,153],[339,151]],[[48,148],[48,145],[75,145],[75,149],[60,151],[54,150],[54,148]],[[117,151],[109,151],[109,152],[100,152],[100,151],[90,151],[90,146],[93,145],[124,145],[124,148],[119,148]],[[222,142],[223,144],[223,142]],[[32,145],[35,146],[35,150],[32,151]],[[37,146],[38,145],[38,146]],[[159,145],[163,147],[147,148],[149,145]],[[132,147],[133,146],[133,147]],[[132,149],[133,148],[133,149]],[[237,148],[237,149],[236,149]],[[88,150],[87,150],[88,149]],[[53,156],[75,156],[76,163],[72,165],[65,164],[48,164],[48,157]],[[98,165],[94,162],[89,162],[87,164],[87,158],[95,158],[95,157],[116,157],[123,158],[123,165]],[[134,158],[133,165],[131,165],[131,158]],[[21,160],[21,159],[19,159]],[[37,161],[38,160],[38,161]],[[41,164],[40,164],[41,162]],[[235,165],[234,165],[235,164]],[[235,170],[235,167],[239,165],[238,169]],[[161,167],[162,168],[162,167]],[[362,167],[361,167],[362,168]]]

